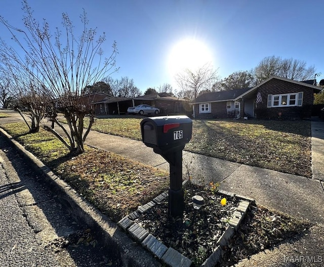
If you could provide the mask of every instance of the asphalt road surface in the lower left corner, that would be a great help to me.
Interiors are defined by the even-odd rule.
[[[119,265],[109,248],[97,242],[87,225],[73,220],[3,137],[0,229],[0,266]]]

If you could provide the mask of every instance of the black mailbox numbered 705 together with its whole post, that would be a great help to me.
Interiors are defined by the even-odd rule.
[[[142,140],[170,164],[169,215],[183,216],[182,150],[191,139],[187,116],[160,116],[141,122]]]

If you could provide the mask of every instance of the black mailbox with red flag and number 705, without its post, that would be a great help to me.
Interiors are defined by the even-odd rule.
[[[192,121],[187,116],[160,116],[141,122],[142,140],[154,151],[183,149],[192,135]]]

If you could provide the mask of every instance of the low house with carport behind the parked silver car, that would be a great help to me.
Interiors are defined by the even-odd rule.
[[[133,98],[114,97],[107,95],[100,101],[94,102],[95,115],[122,115],[132,106],[147,104],[160,109],[161,114],[188,114],[192,108],[189,101],[167,93],[157,93]]]

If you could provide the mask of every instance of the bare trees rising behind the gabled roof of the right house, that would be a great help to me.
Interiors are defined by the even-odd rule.
[[[281,57],[265,57],[254,69],[254,76],[258,83],[277,75],[295,81],[310,80],[314,77],[316,69],[314,66],[306,66],[305,61]]]

